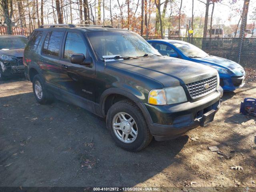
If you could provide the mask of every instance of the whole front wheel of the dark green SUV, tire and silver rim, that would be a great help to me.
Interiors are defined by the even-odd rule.
[[[108,110],[106,124],[117,146],[127,151],[140,151],[152,141],[142,112],[130,100],[113,104]]]

